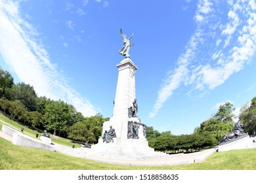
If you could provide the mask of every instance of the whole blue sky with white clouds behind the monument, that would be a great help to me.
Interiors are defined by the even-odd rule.
[[[141,121],[175,135],[230,101],[256,94],[256,3],[248,1],[0,1],[0,65],[37,95],[85,116],[111,117],[119,29],[134,33]]]

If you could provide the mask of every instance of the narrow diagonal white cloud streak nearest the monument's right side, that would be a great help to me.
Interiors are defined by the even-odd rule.
[[[163,107],[163,104],[167,99],[173,95],[173,92],[181,86],[181,84],[190,84],[194,81],[191,78],[188,79],[189,69],[188,66],[196,54],[196,49],[198,44],[202,43],[202,29],[200,27],[201,21],[208,18],[208,14],[211,12],[211,3],[207,0],[200,1],[198,4],[198,9],[196,11],[195,20],[198,22],[198,28],[196,29],[194,35],[190,37],[190,41],[186,46],[186,51],[182,54],[177,62],[177,68],[168,75],[165,80],[163,80],[163,86],[158,91],[158,97],[154,103],[154,107],[149,114],[150,118],[154,118],[158,114],[158,110]],[[200,14],[201,13],[201,14]],[[200,84],[197,85],[201,88]]]

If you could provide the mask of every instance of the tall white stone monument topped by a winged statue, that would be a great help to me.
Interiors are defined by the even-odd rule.
[[[104,122],[102,138],[98,139],[98,144],[91,146],[91,150],[101,152],[102,156],[116,155],[129,158],[166,155],[154,152],[146,141],[146,125],[140,122],[137,114],[135,73],[138,67],[129,55],[129,47],[133,46],[130,43],[133,35],[126,39],[121,31],[121,36],[125,46],[121,48],[119,54],[125,56],[125,59],[116,65],[119,74],[113,116],[108,122]]]

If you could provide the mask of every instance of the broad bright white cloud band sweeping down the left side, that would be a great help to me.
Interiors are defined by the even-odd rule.
[[[85,116],[99,111],[70,86],[69,79],[51,62],[37,39],[37,31],[20,18],[18,3],[0,1],[0,22],[0,53],[22,82],[31,84],[40,96],[74,105]]]

